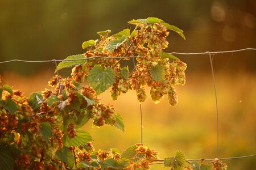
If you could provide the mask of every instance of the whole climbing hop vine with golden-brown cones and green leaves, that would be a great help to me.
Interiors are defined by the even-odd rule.
[[[81,130],[90,119],[93,126],[112,125],[124,131],[121,114],[98,97],[110,89],[113,100],[134,90],[139,103],[150,88],[151,99],[159,103],[164,95],[177,104],[175,86],[185,84],[187,65],[163,52],[168,30],[185,39],[183,31],[158,18],[128,22],[133,29],[111,35],[97,32],[98,40],[82,43],[84,54],[69,56],[56,71],[71,67],[71,76],[53,76],[49,89],[23,96],[7,84],[0,88],[0,167],[2,169],[150,169],[163,162],[171,169],[226,169],[214,159],[212,165],[188,162],[183,152],[161,160],[158,152],[136,144],[123,152],[95,150],[92,136]],[[137,56],[137,57],[134,57]],[[121,67],[131,61],[134,67]],[[83,85],[86,80],[88,85]],[[0,80],[1,82],[1,80]],[[186,164],[188,163],[188,165]]]

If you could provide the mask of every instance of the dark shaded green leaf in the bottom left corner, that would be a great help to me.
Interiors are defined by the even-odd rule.
[[[10,148],[2,144],[0,145],[0,169],[10,170],[14,168],[14,158]]]

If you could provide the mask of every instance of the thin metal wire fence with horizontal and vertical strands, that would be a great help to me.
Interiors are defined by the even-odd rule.
[[[215,76],[214,76],[214,69],[213,69],[213,63],[212,63],[212,56],[211,54],[224,54],[224,53],[237,53],[237,52],[243,52],[243,51],[248,51],[248,50],[253,50],[256,51],[256,48],[243,48],[243,49],[237,49],[237,50],[226,50],[226,51],[218,51],[218,52],[199,52],[199,53],[180,53],[180,52],[171,52],[169,54],[178,54],[178,55],[208,55],[209,60],[210,60],[210,66],[211,66],[211,71],[212,71],[212,78],[213,78],[213,84],[214,84],[214,97],[215,97],[215,104],[216,104],[216,140],[217,140],[217,146],[216,146],[216,158],[220,160],[228,160],[228,159],[242,159],[242,158],[251,158],[256,156],[254,155],[245,155],[245,156],[237,156],[237,157],[229,157],[229,158],[218,158],[219,155],[219,120],[218,120],[218,100],[217,100],[217,90],[216,90],[216,81],[215,81]],[[142,58],[143,56],[130,56],[130,57],[101,57],[101,56],[94,56],[94,57],[88,57],[88,58],[80,58],[80,59],[50,59],[50,60],[22,60],[22,59],[11,59],[8,61],[0,61],[0,63],[9,63],[9,62],[31,62],[31,63],[37,63],[37,62],[52,62],[55,64],[56,71],[57,71],[57,62],[62,62],[62,61],[78,61],[78,60],[86,60],[86,59],[92,59],[92,58],[105,58],[105,59],[121,59],[121,58],[132,58],[134,67],[135,67],[135,61],[134,58]],[[59,74],[57,72],[57,74]],[[143,143],[143,120],[142,120],[142,107],[141,104],[140,106],[140,114],[141,114],[141,144]],[[202,159],[187,159],[187,161],[200,161]],[[203,159],[205,161],[213,161],[214,159]],[[164,160],[158,160],[156,163],[151,163],[151,165],[154,164],[163,164]]]

